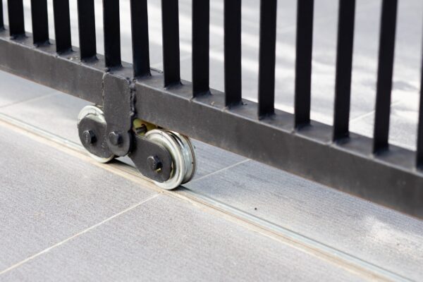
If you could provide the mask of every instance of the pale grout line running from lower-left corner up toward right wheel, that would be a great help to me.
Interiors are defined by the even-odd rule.
[[[139,207],[141,204],[145,204],[145,202],[148,202],[149,200],[153,200],[155,197],[158,197],[159,195],[161,195],[161,194],[158,193],[156,195],[153,195],[152,197],[148,197],[147,199],[142,200],[141,202],[138,202],[137,204],[134,204],[131,207],[128,207],[126,209],[123,209],[123,211],[118,212],[117,214],[114,214],[113,216],[110,216],[109,218],[104,219],[103,221],[100,221],[99,223],[96,223],[93,226],[90,226],[89,228],[87,228],[87,229],[85,229],[83,231],[80,231],[79,233],[76,233],[75,235],[72,235],[69,238],[66,238],[65,240],[62,240],[59,243],[56,243],[56,244],[54,244],[54,245],[52,245],[50,247],[47,247],[47,249],[44,249],[41,252],[37,252],[37,254],[35,254],[35,255],[32,255],[30,257],[27,257],[26,259],[23,259],[22,261],[20,261],[20,262],[18,262],[16,264],[13,264],[12,266],[9,266],[7,269],[4,269],[4,270],[0,271],[0,275],[5,274],[6,272],[11,271],[13,269],[16,269],[17,267],[21,266],[22,264],[25,264],[26,262],[29,262],[30,260],[35,259],[36,257],[39,257],[40,255],[43,255],[43,254],[45,254],[45,253],[53,250],[55,247],[59,247],[60,245],[63,245],[65,243],[67,243],[68,241],[73,240],[73,239],[79,237],[80,235],[83,235],[83,234],[87,233],[88,231],[91,231],[92,229],[97,228],[98,226],[101,226],[103,223],[106,223],[108,221],[111,221],[112,219],[115,219],[116,217],[121,216],[122,214],[125,214],[126,212],[129,212],[132,209],[135,209],[136,207]]]

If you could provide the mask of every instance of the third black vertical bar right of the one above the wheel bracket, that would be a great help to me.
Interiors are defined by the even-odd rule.
[[[192,95],[209,92],[210,0],[192,0]]]

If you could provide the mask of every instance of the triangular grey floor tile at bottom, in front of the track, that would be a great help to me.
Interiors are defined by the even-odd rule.
[[[317,257],[164,195],[9,271],[3,278],[4,281],[360,280]]]

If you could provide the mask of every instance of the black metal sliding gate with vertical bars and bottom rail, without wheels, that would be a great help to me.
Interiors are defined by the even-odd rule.
[[[23,0],[8,0],[8,27],[0,13],[0,68],[103,105],[108,130],[128,130],[128,118],[137,116],[423,218],[423,102],[417,152],[388,144],[397,0],[381,4],[372,139],[348,126],[355,0],[339,0],[333,126],[310,120],[313,0],[298,0],[294,114],[274,108],[276,0],[261,0],[258,103],[241,94],[241,0],[224,1],[224,93],[209,89],[209,0],[192,0],[192,83],[180,80],[178,0],[161,2],[163,73],[149,68],[147,0],[130,1],[132,65],[121,61],[118,0],[103,1],[104,56],[96,51],[94,0],[78,0],[80,49],[71,45],[68,0],[53,1],[55,42],[47,0],[31,1],[32,35],[24,30]]]

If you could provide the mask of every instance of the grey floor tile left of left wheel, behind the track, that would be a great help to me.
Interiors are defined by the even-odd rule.
[[[0,108],[0,113],[80,143],[78,113],[88,104],[91,103],[56,92],[54,95]]]

